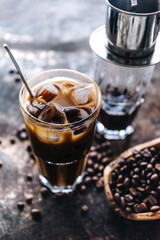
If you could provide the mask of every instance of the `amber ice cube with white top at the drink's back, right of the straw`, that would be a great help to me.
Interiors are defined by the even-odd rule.
[[[42,87],[40,87],[36,93],[36,97],[42,97],[47,102],[51,101],[58,95],[58,88],[55,87],[52,83],[48,83]]]

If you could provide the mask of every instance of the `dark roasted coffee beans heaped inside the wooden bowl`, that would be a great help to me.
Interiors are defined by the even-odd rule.
[[[133,151],[111,174],[110,188],[117,205],[126,213],[160,210],[160,150]]]

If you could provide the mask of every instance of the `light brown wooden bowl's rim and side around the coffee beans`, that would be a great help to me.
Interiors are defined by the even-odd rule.
[[[121,209],[116,202],[114,201],[111,189],[110,189],[110,180],[111,180],[111,173],[112,171],[118,166],[119,162],[123,158],[128,158],[133,154],[134,150],[141,151],[145,148],[149,147],[158,147],[160,148],[160,138],[156,138],[154,140],[151,140],[149,142],[145,142],[139,145],[136,145],[132,148],[129,148],[125,152],[123,152],[119,157],[117,157],[114,161],[112,161],[109,165],[107,165],[104,169],[104,187],[105,192],[107,195],[107,199],[109,201],[109,204],[113,207],[115,212],[117,212],[122,217],[125,217],[130,220],[136,220],[136,221],[148,221],[148,220],[156,220],[160,219],[160,210],[156,212],[144,212],[144,213],[126,213],[123,209]]]

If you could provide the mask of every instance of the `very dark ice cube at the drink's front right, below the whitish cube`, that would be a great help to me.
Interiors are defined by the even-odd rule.
[[[89,116],[89,113],[83,108],[67,107],[64,111],[69,123],[80,121]]]

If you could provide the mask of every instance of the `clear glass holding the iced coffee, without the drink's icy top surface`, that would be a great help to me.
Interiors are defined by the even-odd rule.
[[[82,73],[55,69],[33,76],[28,84],[34,87],[46,79],[70,78],[94,87],[96,108],[87,118],[69,124],[44,122],[32,116],[25,107],[27,90],[23,86],[19,103],[39,167],[39,179],[53,193],[72,192],[82,181],[87,154],[92,143],[94,127],[101,106],[101,91],[97,84]]]

